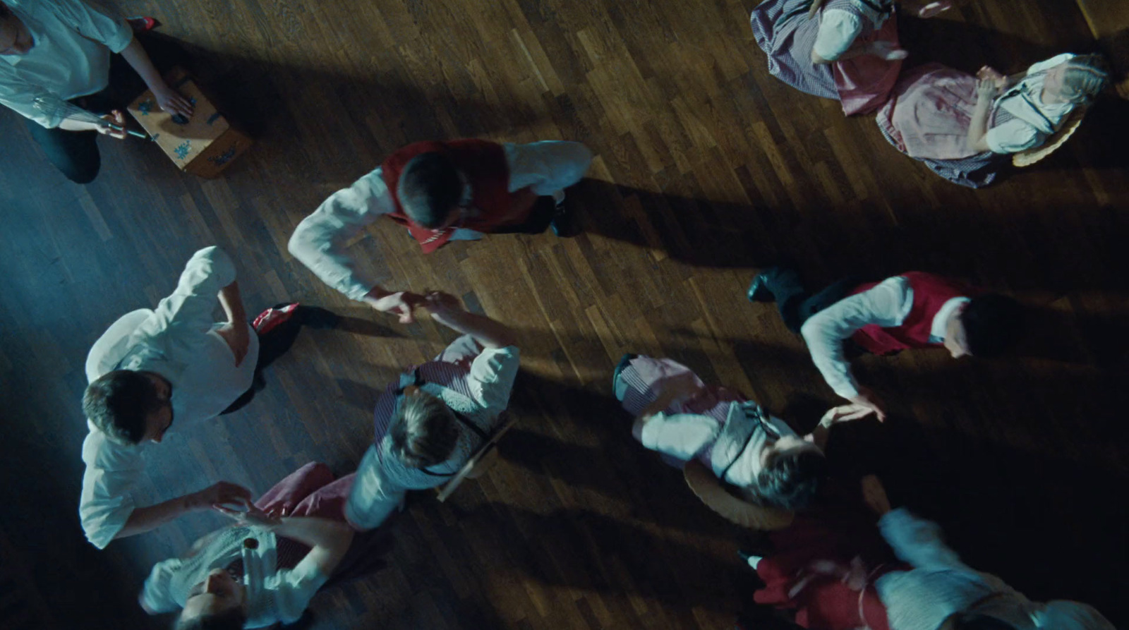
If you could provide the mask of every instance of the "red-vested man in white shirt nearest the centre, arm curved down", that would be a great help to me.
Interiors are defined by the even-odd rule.
[[[568,231],[561,225],[568,219],[561,213],[564,189],[584,177],[592,158],[579,142],[409,145],[326,199],[298,224],[288,247],[326,285],[410,323],[420,296],[390,291],[355,269],[345,248],[353,236],[384,216],[406,227],[423,253],[484,233],[543,231],[550,226]],[[558,210],[539,220],[542,196],[551,198]]]

